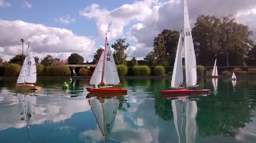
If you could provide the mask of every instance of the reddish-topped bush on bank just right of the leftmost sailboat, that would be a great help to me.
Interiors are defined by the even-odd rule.
[[[52,65],[46,68],[47,76],[70,76],[70,69],[67,62],[53,61]]]

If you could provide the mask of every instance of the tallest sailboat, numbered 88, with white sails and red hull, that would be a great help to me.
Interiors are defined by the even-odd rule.
[[[183,10],[184,10],[184,33],[183,39],[184,43],[181,43],[181,36],[177,48],[174,71],[172,76],[171,87],[178,88],[181,87],[183,83],[183,71],[182,71],[182,48],[184,48],[184,58],[185,58],[185,79],[186,87],[196,87],[197,86],[197,65],[196,65],[196,55],[194,50],[193,38],[191,35],[188,10],[186,0],[183,1]],[[168,90],[161,91],[161,94],[194,94],[194,93],[209,93],[210,90]]]

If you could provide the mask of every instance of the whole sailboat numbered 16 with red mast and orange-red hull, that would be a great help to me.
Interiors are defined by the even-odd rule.
[[[127,89],[116,88],[113,85],[120,84],[116,64],[114,61],[113,53],[108,43],[108,38],[105,33],[105,49],[101,52],[98,63],[95,67],[93,75],[89,81],[89,84],[95,85],[95,88],[86,88],[90,93],[126,93]],[[98,87],[98,85],[100,85]]]

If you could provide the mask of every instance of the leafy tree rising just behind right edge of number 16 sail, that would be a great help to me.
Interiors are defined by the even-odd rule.
[[[129,43],[124,45],[126,38],[117,39],[111,47],[115,50],[113,53],[116,64],[118,65],[126,65],[127,55],[124,51],[129,47]]]

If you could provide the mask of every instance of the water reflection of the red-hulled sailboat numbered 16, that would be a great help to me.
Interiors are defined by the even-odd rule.
[[[104,142],[109,142],[110,134],[115,123],[117,110],[124,94],[93,94],[89,93],[89,104],[96,118],[98,127],[104,137]]]

